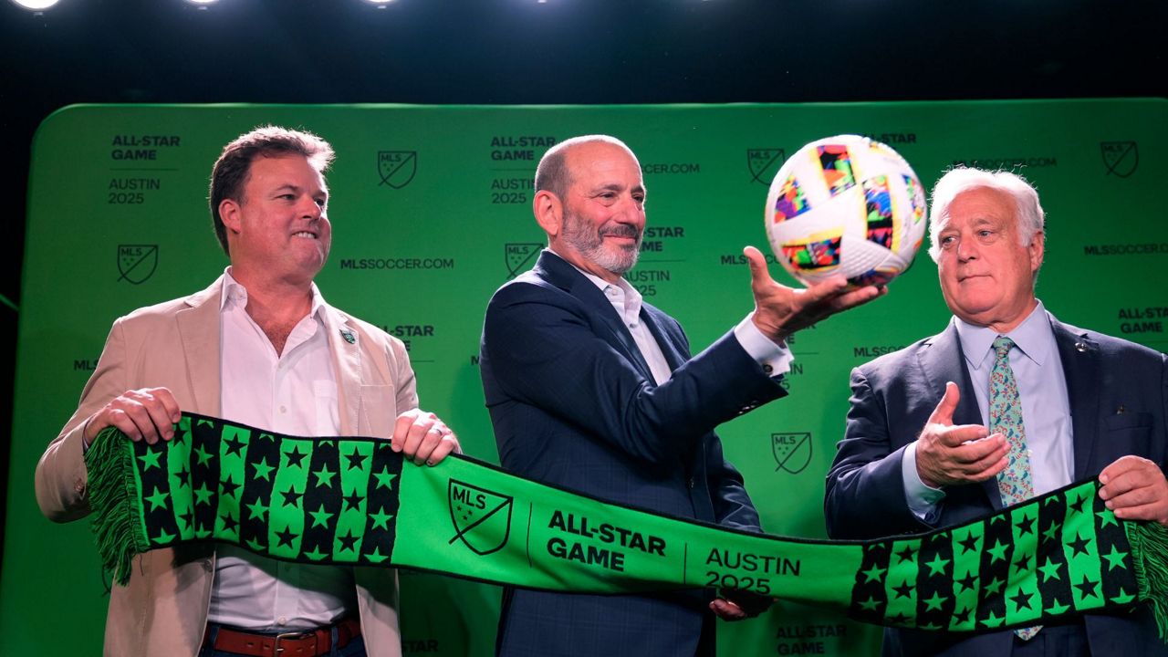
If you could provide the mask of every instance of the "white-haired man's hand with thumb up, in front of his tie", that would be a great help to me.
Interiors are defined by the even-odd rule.
[[[945,383],[945,396],[917,438],[917,475],[927,486],[983,482],[1006,468],[1009,444],[1001,434],[987,437],[981,424],[953,426],[961,399],[957,383]]]

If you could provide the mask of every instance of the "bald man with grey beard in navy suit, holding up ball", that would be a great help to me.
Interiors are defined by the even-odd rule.
[[[623,275],[637,262],[645,185],[611,137],[579,137],[540,161],[533,205],[548,234],[535,269],[491,299],[482,387],[508,470],[660,513],[759,531],[714,428],[784,394],[776,376],[793,331],[875,298],[841,279],[779,285],[746,249],[755,312],[690,358],[681,326],[642,304]],[[723,592],[597,596],[507,588],[501,655],[712,655],[714,614],[769,601]],[[712,614],[711,614],[712,611]]]

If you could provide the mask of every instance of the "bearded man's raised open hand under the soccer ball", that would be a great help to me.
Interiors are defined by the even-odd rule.
[[[888,292],[887,288],[868,285],[848,291],[843,277],[818,283],[806,290],[780,285],[766,269],[766,258],[755,247],[743,249],[750,264],[750,289],[755,293],[755,325],[776,344],[800,328],[826,319],[836,312],[865,304]]]

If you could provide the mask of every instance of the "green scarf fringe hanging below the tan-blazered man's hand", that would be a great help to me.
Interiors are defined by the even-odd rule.
[[[85,452],[89,505],[102,566],[120,586],[130,583],[134,555],[148,548],[134,482],[133,451],[118,429],[103,429]]]

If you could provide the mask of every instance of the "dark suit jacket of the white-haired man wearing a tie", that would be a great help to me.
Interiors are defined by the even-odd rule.
[[[1125,455],[1168,464],[1168,366],[1164,354],[1083,331],[1050,317],[1063,365],[1075,441],[1075,480],[1093,478]],[[827,533],[865,539],[931,530],[908,507],[901,478],[904,448],[954,381],[961,399],[954,424],[985,424],[961,354],[957,327],[851,372],[844,438],[827,476]],[[946,487],[938,526],[962,524],[1001,509],[995,479]],[[1094,655],[1163,656],[1147,608],[1084,617]],[[955,635],[884,631],[885,655],[1009,655],[1011,632]],[[1121,652],[1120,652],[1121,651]]]

